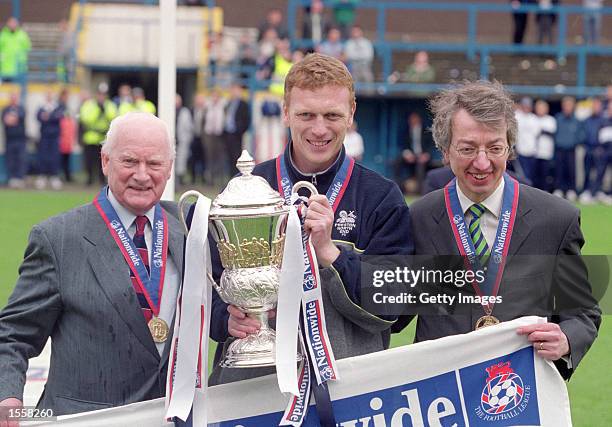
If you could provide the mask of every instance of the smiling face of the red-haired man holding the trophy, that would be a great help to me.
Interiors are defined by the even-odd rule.
[[[295,165],[306,173],[324,171],[338,157],[353,123],[355,104],[349,90],[336,85],[314,90],[293,87],[287,103],[283,118],[291,129]]]

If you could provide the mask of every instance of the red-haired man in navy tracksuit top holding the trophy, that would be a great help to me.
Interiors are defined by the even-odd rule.
[[[282,158],[264,162],[253,172],[278,190],[277,166],[283,169],[282,163],[291,182],[309,181],[319,192],[309,199],[304,226],[319,263],[327,332],[336,359],[389,346],[395,318],[376,316],[360,305],[361,257],[413,251],[408,206],[396,184],[350,160],[352,173],[344,180],[338,178],[346,158],[342,143],[355,108],[353,80],[344,64],[329,56],[308,55],[285,80],[283,115],[292,142]],[[344,193],[334,210],[325,194],[339,183]],[[256,320],[246,318],[236,307],[228,309],[214,294],[211,337],[215,341],[242,338],[258,328]],[[274,368],[227,369],[216,364],[209,383],[272,372]]]

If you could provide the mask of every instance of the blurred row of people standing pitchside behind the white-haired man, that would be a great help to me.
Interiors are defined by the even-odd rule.
[[[100,151],[110,122],[130,111],[156,114],[153,102],[139,87],[121,84],[116,96],[109,97],[106,83],[98,85],[93,96],[81,92],[78,108],[69,108],[69,91],[49,91],[36,108],[38,132],[26,132],[26,110],[18,90],[9,95],[2,110],[5,134],[5,165],[9,188],[59,190],[75,182],[73,169],[82,169],[82,184],[105,183],[100,167]],[[251,124],[250,108],[243,88],[230,84],[227,96],[220,90],[198,93],[193,107],[187,108],[176,95],[176,177],[179,185],[222,185],[234,174],[242,140]],[[32,137],[30,134],[36,134]],[[75,165],[75,153],[82,156],[82,168]]]

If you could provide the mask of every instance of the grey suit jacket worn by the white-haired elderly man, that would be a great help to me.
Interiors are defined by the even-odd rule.
[[[174,203],[162,206],[180,273],[182,227]],[[19,273],[0,312],[0,400],[22,399],[28,359],[48,337],[51,363],[38,406],[55,415],[165,394],[171,339],[160,358],[128,265],[92,204],[34,226]]]

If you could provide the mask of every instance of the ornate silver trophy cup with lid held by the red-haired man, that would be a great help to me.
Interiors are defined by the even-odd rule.
[[[242,175],[230,180],[212,202],[209,234],[217,242],[223,274],[215,289],[228,304],[256,318],[256,334],[234,340],[221,366],[251,368],[273,366],[276,333],[268,325],[268,311],[276,308],[285,229],[289,207],[265,179],[252,175],[255,162],[245,150],[236,163]],[[184,212],[187,199],[200,195],[187,191],[179,200]],[[184,220],[183,220],[184,222]],[[296,355],[296,360],[301,356]]]

